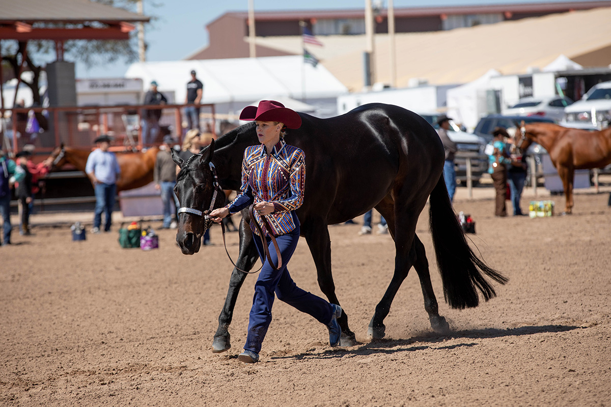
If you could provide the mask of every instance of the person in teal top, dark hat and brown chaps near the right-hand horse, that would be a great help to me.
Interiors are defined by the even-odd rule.
[[[507,152],[505,137],[509,137],[507,131],[502,127],[497,127],[492,132],[492,149],[488,154],[488,173],[492,178],[492,184],[496,190],[496,201],[494,215],[499,217],[507,216],[505,207],[505,197],[507,195],[507,165],[511,164]]]

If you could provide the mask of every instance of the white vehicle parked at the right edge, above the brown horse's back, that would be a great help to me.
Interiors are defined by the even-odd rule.
[[[601,82],[591,87],[581,100],[566,107],[565,115],[567,123],[591,123],[596,128],[609,126],[611,122],[611,81]]]

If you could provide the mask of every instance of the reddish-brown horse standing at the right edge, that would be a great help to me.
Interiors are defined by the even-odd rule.
[[[575,170],[601,168],[611,164],[611,128],[588,131],[552,123],[524,122],[518,128],[522,135],[522,138],[516,141],[519,149],[524,151],[535,142],[549,153],[565,189],[565,213],[570,214],[573,211]]]

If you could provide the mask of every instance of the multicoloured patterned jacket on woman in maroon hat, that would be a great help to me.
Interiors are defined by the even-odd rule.
[[[266,201],[274,204],[274,212],[264,215],[274,236],[293,231],[299,220],[295,209],[301,206],[304,196],[305,156],[304,152],[280,139],[267,155],[264,144],[247,147],[242,162],[241,192],[226,207],[235,214],[252,203]],[[266,233],[261,216],[254,212],[251,229],[255,234],[254,221]]]

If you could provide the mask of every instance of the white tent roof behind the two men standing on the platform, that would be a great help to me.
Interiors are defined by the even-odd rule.
[[[235,103],[236,109],[269,95],[307,100],[348,92],[323,65],[312,67],[302,55],[135,62],[125,77],[141,78],[145,87],[156,81],[159,92],[174,91],[175,100],[182,101],[191,70],[203,83],[202,103]]]

